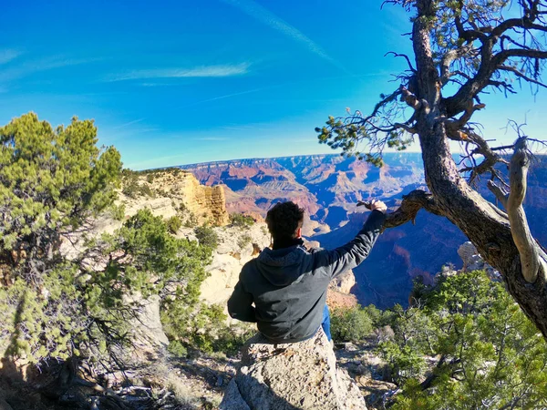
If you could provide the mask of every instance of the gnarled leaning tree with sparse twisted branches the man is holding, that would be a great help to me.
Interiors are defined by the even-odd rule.
[[[406,149],[418,136],[429,192],[414,190],[386,227],[414,220],[425,209],[449,219],[498,269],[509,292],[547,338],[547,255],[530,233],[521,203],[526,192],[530,154],[518,128],[514,145],[490,147],[471,118],[484,108],[480,96],[499,90],[516,92],[514,81],[533,90],[546,87],[541,74],[547,60],[547,3],[542,0],[387,0],[412,13],[414,64],[397,77],[399,87],[367,117],[359,111],[330,117],[315,128],[319,141],[342,154],[382,163],[386,148]],[[511,14],[518,17],[506,18]],[[409,113],[408,113],[409,111]],[[408,113],[408,115],[406,115]],[[407,119],[408,118],[408,119]],[[464,166],[452,158],[449,141],[466,147]],[[366,153],[358,151],[365,144]],[[511,164],[502,155],[513,150]],[[477,158],[481,157],[481,160]],[[506,184],[496,165],[510,168]],[[499,166],[499,165],[498,165]],[[501,210],[474,190],[478,177],[488,176]],[[466,178],[469,177],[469,178]],[[498,181],[498,183],[496,182]],[[500,186],[511,187],[511,193]]]

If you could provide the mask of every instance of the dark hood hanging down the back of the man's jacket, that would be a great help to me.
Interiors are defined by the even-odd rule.
[[[256,258],[258,271],[274,286],[287,286],[299,282],[304,276],[303,246],[292,246],[278,250],[264,248]]]

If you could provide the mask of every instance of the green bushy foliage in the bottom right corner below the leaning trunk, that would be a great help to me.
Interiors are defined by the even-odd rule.
[[[420,293],[420,308],[393,309],[395,336],[378,349],[403,387],[394,409],[547,405],[547,346],[501,283],[467,272]],[[438,364],[424,389],[425,356]]]

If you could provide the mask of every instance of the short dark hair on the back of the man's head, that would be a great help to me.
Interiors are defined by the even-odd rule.
[[[266,223],[274,240],[296,238],[296,231],[304,223],[304,209],[290,200],[277,202],[274,208],[268,210]]]

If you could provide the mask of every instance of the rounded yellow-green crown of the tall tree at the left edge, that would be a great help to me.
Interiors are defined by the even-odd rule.
[[[76,117],[53,129],[30,113],[0,128],[0,248],[35,258],[112,206],[119,152],[97,141],[93,121]]]

